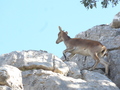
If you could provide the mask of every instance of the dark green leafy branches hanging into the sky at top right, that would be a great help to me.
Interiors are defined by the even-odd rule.
[[[112,6],[116,6],[118,4],[120,0],[102,0],[101,1],[101,5],[103,8],[107,8],[107,6],[111,3]],[[82,0],[80,1],[82,4],[84,4],[84,6],[87,9],[92,9],[93,7],[97,7],[97,2],[99,2],[98,0]]]

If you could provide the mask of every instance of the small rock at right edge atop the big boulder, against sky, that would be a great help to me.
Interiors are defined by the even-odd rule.
[[[120,12],[114,16],[114,19],[110,25],[113,28],[120,28]]]

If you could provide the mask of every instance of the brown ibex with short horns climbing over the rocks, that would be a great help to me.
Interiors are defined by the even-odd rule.
[[[65,53],[69,52],[71,55],[69,58],[73,57],[75,54],[81,54],[84,56],[91,56],[95,60],[95,64],[89,70],[94,70],[98,63],[100,62],[105,66],[105,74],[108,74],[109,63],[106,62],[103,57],[107,55],[107,49],[98,41],[81,39],[81,38],[70,38],[59,26],[60,32],[58,33],[58,39],[56,43],[64,42],[66,48],[63,51],[65,60],[67,60]]]

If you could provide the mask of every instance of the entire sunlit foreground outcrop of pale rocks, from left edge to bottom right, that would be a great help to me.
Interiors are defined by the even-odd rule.
[[[21,90],[23,87],[24,90],[119,90],[103,74],[80,71],[75,62],[63,62],[45,51],[15,51],[1,55],[0,61],[1,68],[9,73],[0,70],[2,90]],[[22,71],[22,76],[16,67]]]

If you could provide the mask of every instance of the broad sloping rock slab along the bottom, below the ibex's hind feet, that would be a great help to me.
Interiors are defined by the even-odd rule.
[[[87,71],[83,76],[85,80],[51,71],[28,70],[23,71],[23,84],[25,90],[119,90],[102,74]]]

